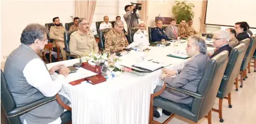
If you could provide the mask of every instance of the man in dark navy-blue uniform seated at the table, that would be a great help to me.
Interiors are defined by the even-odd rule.
[[[163,30],[162,26],[163,22],[161,20],[157,20],[156,28],[153,28],[153,31],[151,32],[151,38],[153,42],[162,41],[162,39],[167,40],[165,30]]]

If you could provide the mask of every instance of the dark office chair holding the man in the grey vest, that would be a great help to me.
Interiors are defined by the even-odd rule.
[[[8,87],[7,81],[5,80],[4,73],[1,70],[1,105],[5,110],[5,114],[10,122],[10,124],[21,124],[20,116],[36,107],[45,105],[49,102],[56,100],[56,97],[43,97],[42,99],[31,102],[27,105],[17,107],[14,101],[14,97]],[[67,110],[62,113],[61,120],[62,123],[68,123],[71,121],[71,111]]]

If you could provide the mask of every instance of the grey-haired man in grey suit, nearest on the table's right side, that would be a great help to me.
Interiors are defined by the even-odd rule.
[[[163,69],[161,79],[172,87],[182,87],[182,89],[196,92],[201,77],[203,76],[204,68],[206,68],[206,63],[209,60],[209,57],[206,54],[206,42],[200,37],[193,36],[189,38],[186,50],[187,55],[191,57],[191,60],[189,60],[182,69]],[[172,77],[175,75],[176,77]],[[160,89],[162,89],[162,86],[157,86],[155,92]],[[191,105],[193,99],[187,94],[176,92],[172,89],[165,89],[160,96],[172,100],[173,102],[186,105]],[[165,110],[163,110],[163,113],[169,115],[169,112],[166,112]],[[154,116],[157,118],[157,110],[154,110]]]

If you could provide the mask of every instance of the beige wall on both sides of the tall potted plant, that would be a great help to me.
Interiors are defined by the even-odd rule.
[[[195,0],[195,1],[187,1],[191,2],[195,5],[195,8],[193,11],[195,12],[194,17],[194,28],[196,31],[199,32],[200,30],[200,16],[202,13],[202,1],[201,0]],[[159,17],[173,17],[172,14],[172,6],[175,5],[175,1],[150,1],[148,3],[148,26],[154,26],[155,22],[154,19],[159,14]]]

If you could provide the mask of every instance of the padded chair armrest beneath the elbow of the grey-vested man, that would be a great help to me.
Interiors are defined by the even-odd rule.
[[[56,97],[43,97],[42,99],[36,100],[34,102],[31,102],[27,105],[16,107],[15,109],[11,110],[11,112],[7,113],[8,118],[14,117],[14,116],[20,116],[23,115],[23,113],[29,112],[30,110],[36,109],[36,107],[45,105],[46,103],[52,102],[53,100],[56,100]]]

